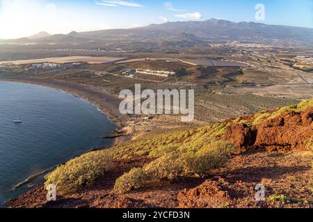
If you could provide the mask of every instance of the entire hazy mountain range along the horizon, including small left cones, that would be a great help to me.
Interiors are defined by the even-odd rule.
[[[303,42],[313,44],[313,28],[266,25],[255,22],[230,22],[209,19],[204,22],[167,22],[141,28],[72,32],[49,35],[46,32],[9,42],[37,42],[38,44],[84,44],[88,42],[184,42],[202,44],[209,41],[242,42]]]

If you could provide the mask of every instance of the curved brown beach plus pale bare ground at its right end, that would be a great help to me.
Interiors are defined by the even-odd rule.
[[[78,96],[92,103],[97,106],[99,110],[102,110],[102,112],[115,123],[119,130],[125,131],[127,134],[126,136],[116,138],[115,144],[129,139],[136,139],[150,132],[165,133],[168,130],[195,128],[206,124],[205,122],[197,120],[184,123],[180,121],[180,117],[176,115],[156,115],[152,120],[145,119],[145,115],[129,118],[128,115],[120,114],[119,106],[121,100],[118,96],[110,94],[104,87],[70,83],[52,78],[6,78],[3,80],[61,89],[64,92]]]

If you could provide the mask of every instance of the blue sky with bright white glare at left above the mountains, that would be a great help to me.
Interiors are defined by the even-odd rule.
[[[0,0],[0,39],[211,18],[313,28],[313,0]]]

